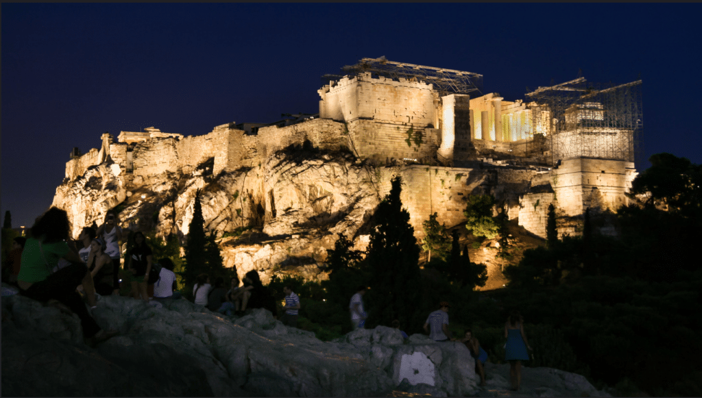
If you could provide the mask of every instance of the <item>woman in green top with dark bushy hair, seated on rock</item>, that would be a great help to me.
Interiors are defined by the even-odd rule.
[[[69,230],[68,215],[60,208],[51,207],[37,219],[30,230],[31,236],[27,238],[25,250],[22,251],[22,267],[18,274],[20,294],[44,303],[51,299],[58,300],[81,319],[83,336],[87,342],[97,343],[110,338],[115,332],[100,329],[76,292],[76,286],[81,284],[88,305],[91,308],[98,305],[93,276],[66,242]],[[65,258],[71,265],[51,273],[60,258]]]

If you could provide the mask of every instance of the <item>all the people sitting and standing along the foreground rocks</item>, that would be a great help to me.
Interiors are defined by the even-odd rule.
[[[96,297],[119,295],[121,266],[119,240],[123,230],[117,223],[117,213],[108,211],[105,221],[97,228],[85,227],[77,241],[69,239],[67,213],[52,207],[37,218],[29,230],[29,237],[17,237],[8,253],[6,266],[9,268],[8,282],[20,288],[20,294],[54,305],[63,311],[74,312],[81,319],[86,343],[98,343],[114,336],[115,331],[103,331],[95,323],[88,307],[98,305]],[[173,262],[161,258],[154,262],[153,252],[146,243],[143,232],[133,234],[134,245],[124,260],[124,268],[129,272],[130,296],[147,303],[163,302],[181,298],[177,290]],[[82,246],[77,248],[77,246]],[[4,265],[5,266],[5,265]],[[158,267],[158,277],[150,283],[153,267]],[[241,283],[243,282],[243,283]],[[241,316],[247,308],[266,308],[277,316],[277,305],[271,292],[261,283],[258,272],[246,273],[242,281],[232,277],[229,288],[225,279],[216,277],[214,284],[208,274],[200,274],[192,288],[194,303],[203,305],[213,312],[228,316]],[[241,284],[241,286],[239,286]],[[152,292],[149,286],[152,285]],[[286,326],[297,327],[300,311],[300,298],[291,286],[284,286],[284,313],[279,318]],[[364,309],[363,297],[366,286],[358,286],[349,303],[353,329],[365,327],[368,314]],[[446,301],[439,303],[439,309],[431,312],[423,329],[437,343],[458,341],[464,343],[475,358],[476,371],[481,385],[485,385],[484,364],[487,353],[470,329],[465,330],[461,339],[451,337],[449,330],[449,309]],[[392,327],[399,330],[399,321]],[[399,330],[403,338],[408,338]],[[512,312],[505,321],[504,336],[505,360],[510,362],[512,390],[518,390],[521,383],[522,361],[529,360],[531,346],[524,334],[524,320],[519,312]]]

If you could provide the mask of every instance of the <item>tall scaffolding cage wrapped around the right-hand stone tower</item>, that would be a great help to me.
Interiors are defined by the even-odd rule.
[[[632,161],[640,164],[642,134],[641,81],[613,86],[584,77],[539,87],[527,93],[531,128],[547,138],[550,164],[575,157]]]

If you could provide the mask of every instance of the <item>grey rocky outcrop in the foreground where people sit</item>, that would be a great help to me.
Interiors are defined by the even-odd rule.
[[[488,364],[487,387],[477,387],[463,344],[403,341],[385,326],[323,342],[266,310],[225,317],[184,299],[159,307],[107,296],[93,316],[119,335],[91,348],[74,314],[23,296],[3,297],[2,309],[4,396],[607,396],[548,368],[524,369],[522,391],[508,392],[504,364]]]

